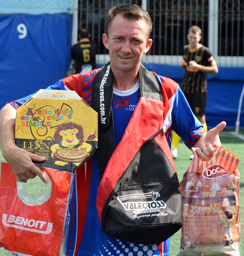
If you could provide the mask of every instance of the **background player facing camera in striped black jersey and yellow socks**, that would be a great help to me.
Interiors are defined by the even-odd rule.
[[[207,103],[207,73],[216,74],[219,72],[216,62],[209,49],[202,44],[201,29],[192,26],[188,30],[187,39],[189,44],[183,47],[183,59],[179,62],[182,69],[185,69],[185,76],[182,82],[182,91],[188,101],[192,112],[203,124],[207,131],[205,120],[205,109]],[[173,158],[177,157],[177,146],[180,137],[173,133],[171,152]],[[191,156],[191,159],[193,155]]]

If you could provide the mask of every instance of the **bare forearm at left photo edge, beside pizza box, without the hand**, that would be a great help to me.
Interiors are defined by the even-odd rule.
[[[15,116],[16,110],[10,105],[5,105],[0,112],[0,144],[2,155],[9,145],[15,144]]]

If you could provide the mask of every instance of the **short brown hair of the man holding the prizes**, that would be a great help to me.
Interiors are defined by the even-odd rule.
[[[111,27],[111,23],[114,17],[118,14],[122,14],[122,16],[130,21],[133,20],[143,20],[147,26],[147,40],[149,39],[152,32],[152,19],[149,14],[143,10],[142,7],[134,4],[120,4],[115,5],[108,11],[107,21],[106,21],[106,34],[108,36],[108,31]]]

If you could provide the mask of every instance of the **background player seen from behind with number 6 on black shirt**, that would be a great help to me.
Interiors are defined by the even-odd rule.
[[[91,34],[86,28],[78,30],[79,42],[72,47],[72,59],[75,62],[75,72],[89,72],[97,68],[97,43],[89,40]]]

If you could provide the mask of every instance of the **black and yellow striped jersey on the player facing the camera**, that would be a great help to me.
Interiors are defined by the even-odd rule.
[[[211,66],[216,62],[209,49],[200,44],[196,50],[190,50],[190,45],[183,47],[183,58],[189,64],[190,61],[196,61],[203,66]],[[203,93],[207,92],[207,74],[197,69],[190,69],[186,66],[185,76],[182,82],[182,91],[184,93]]]

